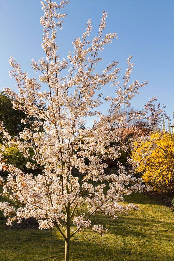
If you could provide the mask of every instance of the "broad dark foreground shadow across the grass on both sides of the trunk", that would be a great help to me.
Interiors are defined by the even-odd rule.
[[[13,230],[13,233],[16,231]],[[20,230],[16,235],[16,241],[11,241],[11,237],[6,237],[4,251],[2,251],[1,261],[41,261],[41,260],[64,260],[64,240],[57,239],[55,231]],[[80,233],[81,234],[81,233]],[[135,247],[128,241],[120,242],[119,238],[112,238],[109,244],[108,238],[94,236],[94,234],[80,237],[80,234],[71,240],[70,260],[71,261],[172,261],[172,253],[162,253],[155,248],[142,249]],[[12,235],[11,235],[12,236]],[[13,235],[14,236],[14,235]],[[136,244],[136,242],[135,242]]]

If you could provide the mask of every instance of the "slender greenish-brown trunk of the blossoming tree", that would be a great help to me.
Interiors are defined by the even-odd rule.
[[[69,202],[67,204],[67,225],[65,231],[65,261],[69,261],[69,249],[70,249],[70,205]]]

